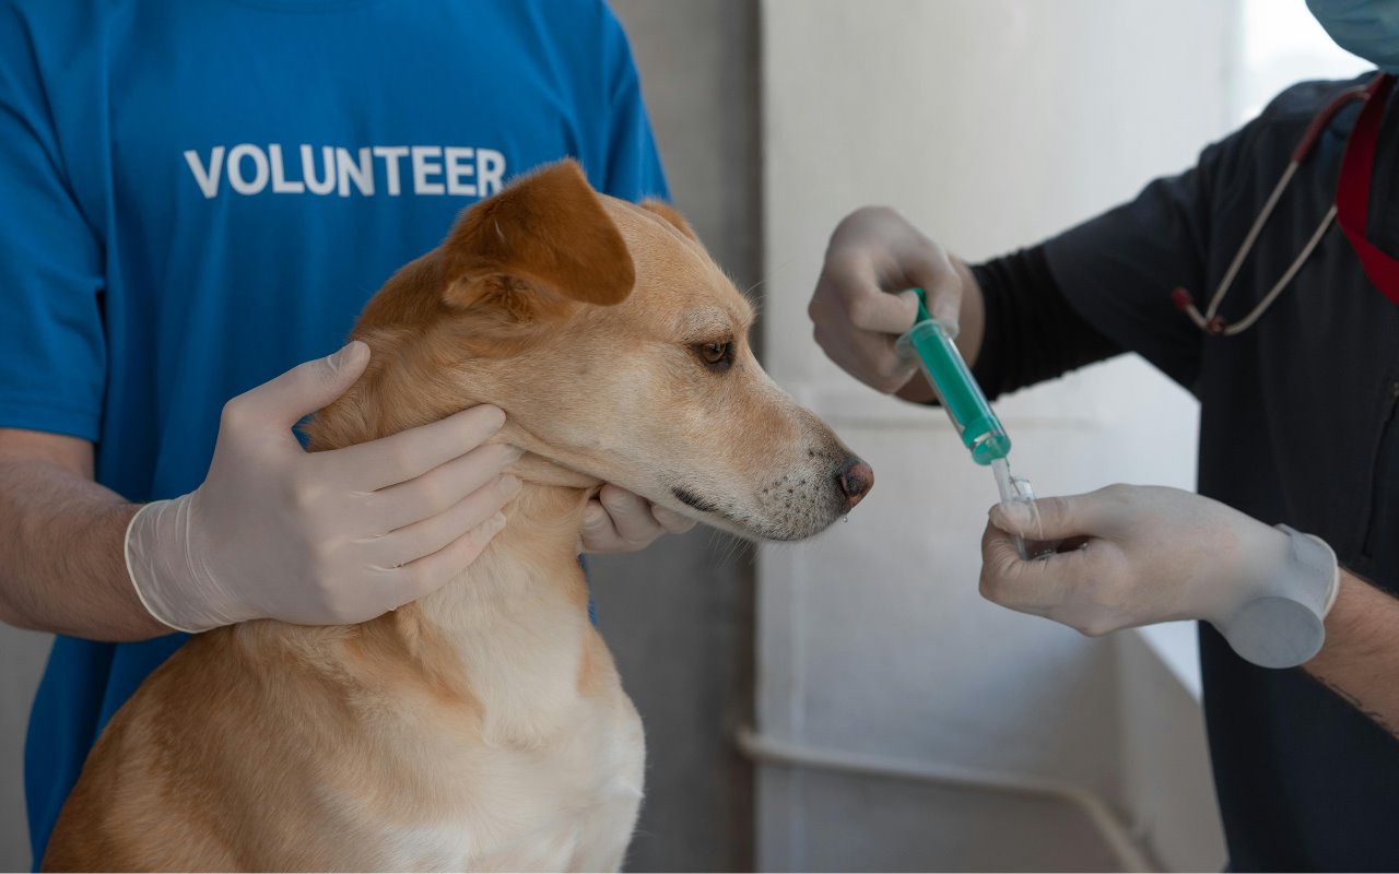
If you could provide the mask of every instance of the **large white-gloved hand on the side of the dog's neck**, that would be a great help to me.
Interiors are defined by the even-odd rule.
[[[305,452],[292,425],[369,361],[351,343],[224,407],[207,478],[141,508],[126,564],[141,603],[178,631],[245,619],[364,622],[441,587],[505,524],[520,450],[485,445],[505,422],[471,407],[369,443]]]

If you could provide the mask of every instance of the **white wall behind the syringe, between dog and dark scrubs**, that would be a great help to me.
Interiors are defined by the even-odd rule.
[[[848,524],[810,547],[761,552],[764,734],[1070,780],[1128,818],[1129,800],[1151,793],[1123,776],[1123,757],[1140,754],[1126,737],[1140,708],[1123,709],[1122,689],[1137,688],[1139,674],[1140,689],[1172,688],[1170,673],[1147,677],[1114,642],[983,603],[989,471],[942,413],[877,397],[824,361],[804,310],[831,228],[860,204],[897,206],[950,250],[981,259],[1189,165],[1226,129],[1233,10],[1217,0],[764,1],[767,364],[876,471]],[[1041,494],[1193,484],[1195,404],[1137,359],[997,408],[1016,470]],[[1178,708],[1172,724],[1182,726],[1170,768],[1205,775],[1192,699],[1161,703]],[[1171,803],[1212,810],[1207,775],[1182,783],[1189,797]],[[1062,825],[1009,797],[928,791],[900,825],[877,801],[890,793],[814,772],[768,769],[760,791],[764,868],[839,864],[832,840],[855,833],[874,847],[858,863],[866,868],[1112,864],[1083,824],[1087,838],[1066,843]],[[979,828],[963,817],[972,803],[989,811]],[[1195,845],[1161,856],[1224,861],[1217,826],[1168,831]]]

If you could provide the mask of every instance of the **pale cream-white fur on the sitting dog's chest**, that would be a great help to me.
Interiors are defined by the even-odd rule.
[[[473,578],[490,575],[485,582],[473,579],[422,603],[425,615],[450,635],[480,703],[480,723],[432,724],[429,709],[421,723],[411,710],[402,715],[400,743],[420,748],[403,757],[414,773],[395,782],[428,793],[435,815],[386,817],[382,798],[360,810],[341,807],[357,826],[378,832],[378,867],[550,871],[621,864],[642,797],[641,719],[604,647],[586,640],[597,633],[586,612],[560,597],[558,587],[530,582],[530,564],[513,558],[483,557]],[[604,661],[588,666],[593,682],[585,692],[588,649]]]

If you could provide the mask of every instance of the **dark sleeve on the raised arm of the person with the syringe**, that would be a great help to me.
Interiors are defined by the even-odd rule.
[[[1140,354],[1195,392],[1203,334],[1175,308],[1171,292],[1188,288],[1203,306],[1248,229],[1247,221],[1233,217],[1245,214],[1251,221],[1262,204],[1254,180],[1267,187],[1276,182],[1295,144],[1293,129],[1300,136],[1318,101],[1344,84],[1288,89],[1258,119],[1205,148],[1185,172],[1156,179],[1135,200],[1039,246],[974,266],[986,298],[986,334],[975,372],[988,394],[1125,351]],[[1344,131],[1337,119],[1328,137],[1343,140]],[[1329,199],[1332,185],[1312,186],[1298,176],[1270,224],[1286,221],[1284,213],[1300,200]],[[1318,218],[1325,213],[1319,208]],[[1302,213],[1298,221],[1314,221],[1309,210]],[[1262,268],[1272,282],[1290,262],[1286,257],[1277,266],[1286,253],[1269,255],[1267,241],[1260,241],[1224,315],[1238,317],[1251,306],[1245,285],[1252,270]]]

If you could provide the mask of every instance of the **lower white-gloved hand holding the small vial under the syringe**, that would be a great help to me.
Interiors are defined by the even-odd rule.
[[[1023,561],[1010,534],[1081,547]],[[1321,649],[1340,585],[1319,538],[1153,485],[997,503],[982,562],[981,593],[1003,607],[1086,635],[1205,619],[1265,667],[1301,664]]]

